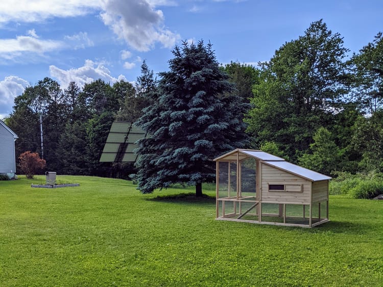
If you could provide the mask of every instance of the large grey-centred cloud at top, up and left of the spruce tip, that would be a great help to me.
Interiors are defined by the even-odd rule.
[[[180,36],[163,27],[163,13],[146,0],[106,0],[101,18],[120,39],[138,51],[156,42],[172,47]]]

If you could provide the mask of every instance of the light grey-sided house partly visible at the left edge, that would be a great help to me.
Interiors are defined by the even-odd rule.
[[[16,173],[15,140],[17,135],[0,120],[0,174],[13,178]]]

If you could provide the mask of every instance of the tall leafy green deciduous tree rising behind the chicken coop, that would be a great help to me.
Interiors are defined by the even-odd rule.
[[[341,36],[320,20],[262,63],[246,118],[258,144],[273,141],[292,161],[297,150],[308,149],[314,132],[330,125],[331,111],[338,110],[337,102],[347,92],[342,61],[347,51]]]

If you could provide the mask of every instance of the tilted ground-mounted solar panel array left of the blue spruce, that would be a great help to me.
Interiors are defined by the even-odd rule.
[[[137,155],[133,152],[137,148],[135,142],[145,137],[145,132],[131,122],[113,122],[100,162],[135,162],[137,160]]]

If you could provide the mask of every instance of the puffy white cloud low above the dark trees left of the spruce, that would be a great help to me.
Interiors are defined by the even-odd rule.
[[[83,87],[85,83],[91,83],[94,80],[102,79],[107,83],[114,84],[117,81],[127,81],[124,75],[117,78],[110,74],[110,70],[103,63],[96,63],[91,60],[85,60],[82,67],[76,69],[63,70],[54,65],[49,66],[52,77],[55,77],[61,87],[65,89],[70,82],[76,82],[79,87]]]

